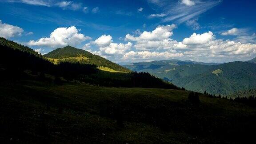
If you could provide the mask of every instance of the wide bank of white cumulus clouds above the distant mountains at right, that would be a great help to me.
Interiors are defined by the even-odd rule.
[[[158,28],[163,27],[159,26]],[[157,29],[157,28],[156,28]],[[155,30],[156,30],[155,29]],[[164,29],[164,28],[163,28]],[[162,30],[163,30],[162,29]],[[216,39],[213,32],[202,34],[193,33],[191,36],[178,42],[170,39],[172,28],[169,30],[157,30],[157,32],[143,32],[139,36],[127,35],[126,40],[136,41],[133,48],[126,52],[122,60],[144,61],[144,60],[163,60],[163,59],[180,59],[196,60],[204,62],[223,62],[234,60],[247,60],[256,55],[256,44],[243,41],[247,37],[240,36],[240,41]],[[163,37],[155,37],[162,33]],[[166,34],[164,34],[166,33]],[[152,36],[154,35],[154,36]],[[253,34],[251,41],[254,41]]]

